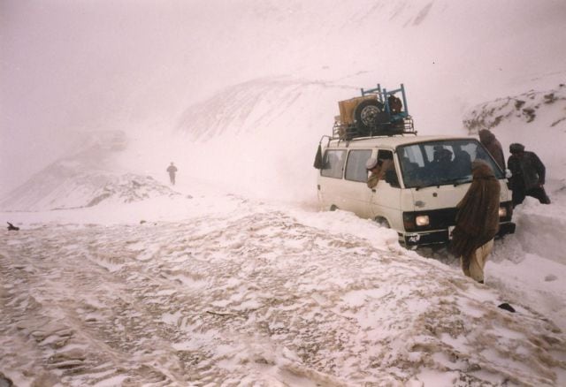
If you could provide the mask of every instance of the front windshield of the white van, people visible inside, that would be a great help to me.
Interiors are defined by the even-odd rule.
[[[403,182],[408,188],[459,185],[471,181],[471,162],[481,159],[488,163],[496,178],[504,178],[478,140],[437,140],[397,148]]]

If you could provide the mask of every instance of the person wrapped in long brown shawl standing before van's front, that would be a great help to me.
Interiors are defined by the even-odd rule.
[[[473,180],[456,206],[456,225],[450,250],[461,257],[463,274],[484,283],[484,266],[499,231],[501,186],[491,167],[481,161],[471,163]]]

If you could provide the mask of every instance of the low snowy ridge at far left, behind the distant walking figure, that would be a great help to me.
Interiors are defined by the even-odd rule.
[[[178,194],[150,176],[119,168],[117,154],[127,148],[124,133],[88,133],[79,143],[73,155],[51,163],[0,200],[0,209],[78,209]]]

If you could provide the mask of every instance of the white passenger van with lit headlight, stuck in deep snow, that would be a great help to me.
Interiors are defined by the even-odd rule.
[[[326,142],[326,143],[323,143]],[[513,233],[511,191],[505,172],[471,137],[393,135],[321,141],[317,178],[323,209],[343,209],[397,231],[406,247],[445,243],[455,225],[456,204],[471,183],[471,162],[491,165],[501,182],[499,235]],[[449,152],[447,152],[449,151]],[[438,155],[449,155],[440,165]],[[368,188],[370,157],[394,160],[385,180]]]

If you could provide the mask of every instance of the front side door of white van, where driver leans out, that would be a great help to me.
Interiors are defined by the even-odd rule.
[[[371,191],[371,217],[385,218],[389,225],[402,230],[401,186],[399,184],[399,166],[394,160],[391,150],[379,149],[378,160],[389,161],[389,171],[393,171],[394,181],[386,182],[385,178]],[[391,173],[391,172],[390,172]]]

